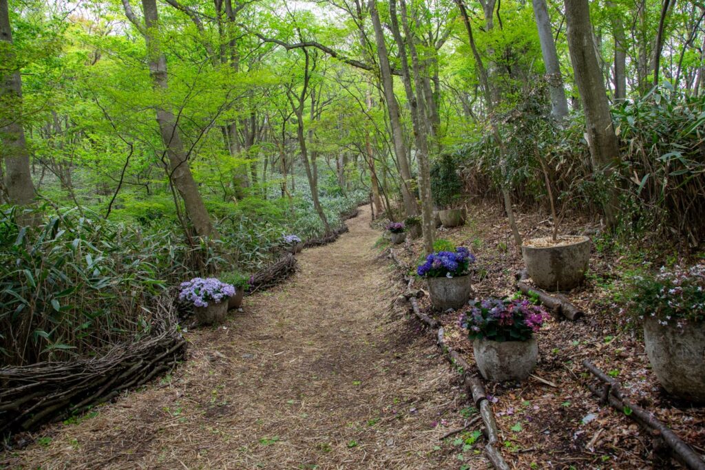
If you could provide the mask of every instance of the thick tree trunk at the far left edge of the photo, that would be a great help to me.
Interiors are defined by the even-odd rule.
[[[0,0],[0,63],[6,68],[0,79],[0,101],[7,106],[9,122],[0,123],[0,155],[5,161],[5,187],[10,204],[30,204],[35,197],[35,186],[30,173],[30,152],[22,127],[22,78],[12,44],[12,28],[7,0]],[[7,70],[9,69],[9,70]],[[0,161],[0,165],[2,161]]]

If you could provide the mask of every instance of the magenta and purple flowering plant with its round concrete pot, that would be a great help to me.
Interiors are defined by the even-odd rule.
[[[490,381],[522,381],[529,376],[539,357],[534,333],[548,316],[527,300],[477,300],[460,317],[472,340],[475,362]]]

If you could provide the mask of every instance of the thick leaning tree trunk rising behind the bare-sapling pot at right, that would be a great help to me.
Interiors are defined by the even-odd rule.
[[[587,121],[588,144],[594,171],[610,177],[620,161],[610,105],[597,57],[592,47],[592,26],[587,0],[564,0],[566,36],[575,82]],[[618,194],[614,182],[607,181],[608,201],[603,206],[608,228],[615,228]]]

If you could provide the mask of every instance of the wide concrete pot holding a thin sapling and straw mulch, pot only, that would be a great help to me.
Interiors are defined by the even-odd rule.
[[[582,236],[560,239],[571,239],[570,244],[556,247],[522,246],[529,276],[541,289],[570,290],[580,285],[585,277],[590,261],[590,239]]]

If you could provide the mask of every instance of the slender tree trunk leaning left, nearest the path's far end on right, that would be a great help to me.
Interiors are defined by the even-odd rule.
[[[384,31],[379,21],[377,13],[376,0],[369,0],[369,15],[372,17],[372,26],[374,27],[374,39],[377,44],[377,55],[379,56],[379,73],[381,75],[382,89],[384,92],[384,100],[389,111],[389,125],[391,128],[392,140],[394,144],[394,153],[399,164],[401,175],[401,194],[404,202],[404,210],[407,216],[415,216],[419,213],[418,204],[414,194],[410,190],[412,181],[409,161],[407,159],[406,144],[404,142],[404,134],[401,127],[399,106],[394,96],[394,83],[392,80],[391,66],[387,56],[387,47],[384,43]]]

